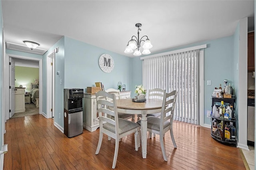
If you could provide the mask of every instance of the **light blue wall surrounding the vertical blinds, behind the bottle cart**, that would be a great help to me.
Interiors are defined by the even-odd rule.
[[[223,86],[224,79],[228,79],[228,83],[231,83],[232,86],[234,85],[232,61],[234,51],[234,36],[228,36],[201,43],[194,43],[183,47],[168,49],[159,53],[202,44],[207,44],[207,48],[204,49],[204,123],[210,125],[210,118],[207,118],[206,115],[207,110],[212,110],[211,97],[214,87],[219,87],[220,84]],[[132,84],[136,85],[140,82],[142,83],[142,60],[140,60],[140,57],[134,57],[132,58],[132,64],[132,70],[136,69],[136,73],[133,72],[132,74]],[[211,80],[212,85],[207,85],[207,80]],[[135,88],[132,89],[132,91],[134,90]]]

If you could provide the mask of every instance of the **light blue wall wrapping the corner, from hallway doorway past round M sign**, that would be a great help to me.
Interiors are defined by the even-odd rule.
[[[60,39],[43,56],[43,90],[46,91],[46,57],[52,53],[56,47],[59,52],[55,55],[55,116],[54,121],[64,127],[63,117],[63,89],[81,88],[86,91],[87,87],[92,87],[95,82],[102,82],[105,89],[117,89],[118,81],[126,84],[126,89],[130,89],[131,70],[129,57],[102,49],[84,42],[80,42],[68,37]],[[98,64],[100,55],[109,54],[115,63],[111,73],[104,73]],[[56,72],[60,71],[60,76]],[[60,85],[62,79],[62,85]],[[46,113],[46,94],[43,95],[43,112]]]

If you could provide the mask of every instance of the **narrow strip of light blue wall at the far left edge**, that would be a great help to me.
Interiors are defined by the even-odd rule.
[[[4,51],[3,51],[3,18],[2,18],[2,1],[0,1],[0,146],[2,146],[3,141],[4,141],[4,134],[3,134],[3,99],[2,99],[2,94],[3,94],[3,85],[4,85],[4,77],[3,77],[3,73],[4,73]]]

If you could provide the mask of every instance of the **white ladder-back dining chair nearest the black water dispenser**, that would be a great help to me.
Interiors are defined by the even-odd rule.
[[[107,93],[106,91],[98,91],[96,93],[96,101],[97,101],[97,111],[99,114],[100,121],[100,136],[98,141],[98,146],[96,149],[96,155],[100,152],[100,146],[102,144],[103,133],[114,138],[115,142],[115,152],[112,168],[116,167],[116,160],[118,155],[119,148],[119,139],[127,136],[128,134],[134,134],[135,140],[135,150],[138,151],[139,148],[139,138],[138,138],[138,130],[139,125],[132,121],[128,121],[126,119],[118,118],[117,107],[116,107],[116,96],[114,94]],[[111,108],[111,109],[110,109]],[[114,119],[110,119],[108,117],[114,117]],[[111,138],[108,138],[110,140]]]

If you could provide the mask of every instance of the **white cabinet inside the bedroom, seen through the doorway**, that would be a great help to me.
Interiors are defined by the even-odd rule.
[[[25,88],[15,88],[15,112],[24,112],[25,109]]]

